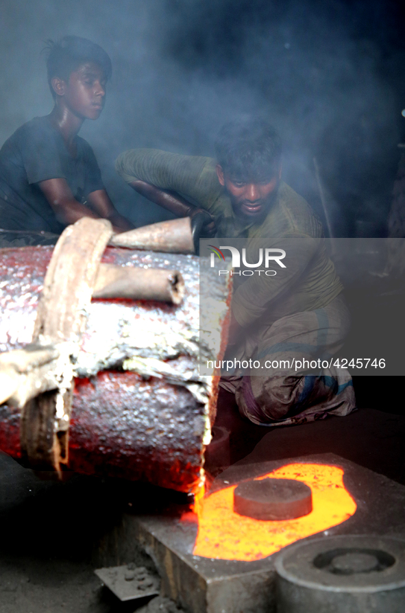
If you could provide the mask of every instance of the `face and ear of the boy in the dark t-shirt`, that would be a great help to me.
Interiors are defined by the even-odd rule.
[[[56,79],[53,88],[64,104],[80,119],[98,119],[106,100],[106,77],[99,64],[84,62],[69,75],[69,81]]]

